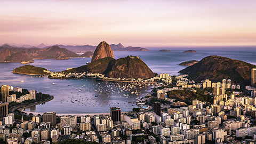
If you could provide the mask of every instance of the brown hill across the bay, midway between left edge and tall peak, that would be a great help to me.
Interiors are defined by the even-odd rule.
[[[66,60],[70,57],[78,57],[78,54],[59,46],[51,46],[47,49],[40,49],[32,56],[35,59],[60,59]]]

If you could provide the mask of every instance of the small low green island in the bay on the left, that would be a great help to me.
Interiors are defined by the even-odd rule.
[[[25,65],[15,68],[14,70],[12,70],[12,73],[24,75],[49,75],[51,72],[45,68]]]

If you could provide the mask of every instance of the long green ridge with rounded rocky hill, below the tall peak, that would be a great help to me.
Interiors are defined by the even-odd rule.
[[[64,73],[99,73],[111,78],[151,78],[154,77],[153,71],[139,57],[128,56],[126,58],[113,59],[110,57],[69,70]]]

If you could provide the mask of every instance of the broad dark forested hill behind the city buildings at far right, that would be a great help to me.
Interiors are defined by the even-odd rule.
[[[252,68],[256,66],[244,61],[213,55],[180,70],[179,73],[188,74],[188,78],[195,81],[210,79],[213,82],[221,82],[224,78],[231,79],[235,84],[241,84],[241,87],[244,87],[250,85]]]

